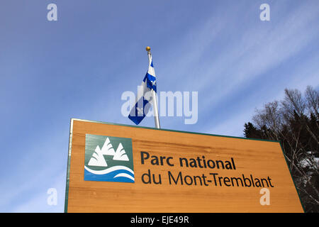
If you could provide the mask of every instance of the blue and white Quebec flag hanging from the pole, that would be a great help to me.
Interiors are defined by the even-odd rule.
[[[145,118],[150,106],[153,104],[152,90],[156,92],[156,77],[155,70],[152,62],[152,55],[150,55],[150,65],[148,66],[147,73],[143,79],[142,84],[138,87],[138,97],[135,101],[128,118],[135,124],[139,124]]]

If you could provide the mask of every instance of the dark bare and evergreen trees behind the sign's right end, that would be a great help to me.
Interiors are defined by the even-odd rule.
[[[279,140],[306,212],[319,212],[319,92],[285,89],[284,100],[257,109],[246,138]]]

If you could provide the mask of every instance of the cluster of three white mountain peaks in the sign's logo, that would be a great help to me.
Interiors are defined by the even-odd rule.
[[[113,160],[129,161],[128,155],[126,155],[122,143],[118,145],[118,148],[115,151],[111,144],[110,139],[106,138],[102,149],[99,147],[99,145],[96,146],[95,151],[91,159],[89,160],[88,165],[107,167],[108,165],[103,155],[111,155],[113,156]]]

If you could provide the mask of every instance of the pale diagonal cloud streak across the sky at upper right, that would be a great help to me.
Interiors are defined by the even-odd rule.
[[[318,21],[318,8],[304,4],[278,19],[269,22],[272,26],[265,29],[259,21],[251,23],[245,31],[238,31],[241,35],[238,42],[211,63],[212,67],[206,69],[208,73],[201,74],[211,80],[209,85],[213,84],[214,95],[207,97],[206,103],[212,105],[242,84],[297,55],[310,42],[318,40],[319,28],[314,26]],[[204,79],[202,89],[208,89]]]

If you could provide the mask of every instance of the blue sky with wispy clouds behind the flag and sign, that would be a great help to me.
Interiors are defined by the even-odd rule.
[[[271,21],[259,19],[263,3]],[[162,117],[162,128],[243,136],[285,88],[318,89],[318,23],[317,0],[1,0],[0,211],[64,210],[70,118],[133,124],[121,94],[142,82],[145,46],[158,91],[198,92],[198,122]]]

